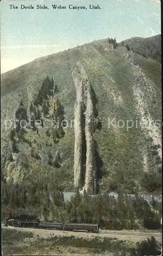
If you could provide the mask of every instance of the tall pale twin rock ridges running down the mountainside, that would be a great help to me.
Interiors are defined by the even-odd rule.
[[[95,193],[96,162],[94,148],[94,105],[91,100],[91,86],[80,62],[72,72],[77,101],[75,105],[75,153],[74,185]]]

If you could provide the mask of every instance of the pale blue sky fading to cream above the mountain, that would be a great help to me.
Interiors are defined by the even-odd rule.
[[[49,10],[11,10],[10,4],[45,4]],[[67,9],[54,10],[52,4]],[[87,10],[69,10],[69,4],[86,6]],[[101,9],[90,10],[89,4],[99,4]],[[116,37],[121,41],[156,35],[160,26],[160,4],[154,0],[2,1],[1,73],[97,39]]]

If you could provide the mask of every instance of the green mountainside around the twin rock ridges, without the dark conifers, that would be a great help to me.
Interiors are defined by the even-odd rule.
[[[100,126],[91,133],[94,138],[96,193],[119,189],[127,193],[159,190],[161,140],[160,127],[155,121],[161,118],[160,63],[128,51],[123,46],[113,49],[107,39],[38,58],[2,75],[4,182],[29,185],[45,182],[49,190],[56,186],[65,191],[74,191],[73,122],[78,88],[75,87],[73,74],[77,63],[82,66],[92,88],[90,97],[92,102],[96,102],[96,115],[93,116],[100,120]],[[54,78],[58,91],[54,96],[50,95],[51,89],[43,91],[43,102],[49,100],[50,114],[53,105],[58,104],[58,108],[58,98],[64,108],[68,127],[63,127],[64,134],[56,140],[51,136],[56,131],[54,127],[52,131],[46,127],[35,131],[27,129],[22,135],[14,134],[11,140],[14,127],[5,129],[5,119],[13,121],[17,111],[26,113],[28,119],[31,102],[42,120],[49,118],[43,114],[42,103],[35,105],[35,99],[42,92],[40,90],[44,90],[41,89],[42,83],[47,76]],[[81,82],[86,82],[85,77],[79,76]],[[127,128],[127,123],[133,127]],[[16,136],[19,136],[17,141]],[[17,143],[17,151],[13,151],[13,140]],[[55,164],[50,163],[51,158]]]

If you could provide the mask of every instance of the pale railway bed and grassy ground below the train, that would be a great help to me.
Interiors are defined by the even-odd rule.
[[[151,238],[152,237],[152,238]],[[147,240],[148,239],[148,240]],[[145,241],[145,242],[144,242]],[[2,226],[3,255],[138,255],[141,243],[161,244],[160,233],[100,230],[99,233]],[[152,254],[152,255],[159,255]]]

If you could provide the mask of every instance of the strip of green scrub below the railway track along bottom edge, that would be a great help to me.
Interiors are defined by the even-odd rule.
[[[51,238],[33,237],[31,232],[23,232],[11,229],[2,230],[2,247],[4,255],[28,254],[37,252],[47,253],[56,250],[58,253],[62,250],[69,249],[68,254],[73,254],[78,248],[78,254],[85,249],[86,253],[104,253],[109,252],[119,256],[144,256],[159,255],[160,245],[151,237],[142,242],[127,242],[116,238],[99,238],[90,239],[79,238],[75,236],[54,236]],[[54,254],[54,253],[53,253]]]

